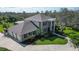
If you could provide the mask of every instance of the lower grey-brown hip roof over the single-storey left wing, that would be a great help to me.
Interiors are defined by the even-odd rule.
[[[8,30],[16,33],[18,35],[26,34],[32,31],[35,31],[37,28],[31,22],[23,22],[14,27],[9,28]]]

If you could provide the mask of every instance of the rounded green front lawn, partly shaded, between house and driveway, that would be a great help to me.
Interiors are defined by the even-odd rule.
[[[58,36],[50,38],[41,38],[34,42],[37,45],[48,45],[48,44],[66,44],[67,40]]]

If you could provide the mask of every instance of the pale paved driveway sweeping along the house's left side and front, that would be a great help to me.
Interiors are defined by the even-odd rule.
[[[77,51],[70,44],[66,45],[27,45],[21,46],[11,38],[0,33],[0,47],[8,48],[12,51]]]

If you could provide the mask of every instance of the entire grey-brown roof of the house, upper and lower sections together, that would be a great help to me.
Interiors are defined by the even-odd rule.
[[[38,26],[39,22],[47,21],[48,19],[51,19],[51,17],[45,16],[43,14],[37,14],[35,16],[26,18],[24,22],[19,23],[8,30],[18,35],[26,34],[37,29],[37,27],[32,22]]]

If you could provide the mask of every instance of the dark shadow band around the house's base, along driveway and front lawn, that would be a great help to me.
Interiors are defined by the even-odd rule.
[[[19,43],[23,47],[26,47],[27,45],[36,45],[35,41],[37,41],[37,40],[41,40],[41,41],[50,40],[50,41],[53,41],[53,40],[55,40],[57,38],[57,36],[54,35],[54,34],[43,35],[43,36],[38,35],[38,36],[36,36],[34,38],[25,40],[23,42],[18,42],[18,40],[16,38],[13,38],[11,36],[6,36],[6,37],[12,38],[14,41]]]

